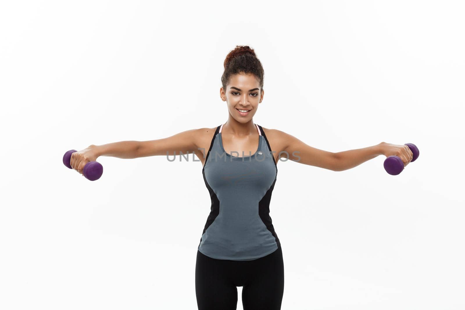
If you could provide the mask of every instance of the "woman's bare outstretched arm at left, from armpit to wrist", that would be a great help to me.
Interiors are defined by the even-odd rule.
[[[199,129],[179,132],[171,137],[150,141],[121,141],[104,145],[90,145],[97,157],[139,158],[155,155],[179,155],[197,151]]]

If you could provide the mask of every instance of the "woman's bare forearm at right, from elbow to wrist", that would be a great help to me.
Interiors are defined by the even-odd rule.
[[[351,169],[382,154],[381,144],[335,153],[337,164],[334,171]]]

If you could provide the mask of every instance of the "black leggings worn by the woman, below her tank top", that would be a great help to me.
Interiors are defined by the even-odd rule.
[[[280,310],[284,292],[281,247],[250,261],[215,259],[197,250],[195,294],[199,310],[235,310],[237,286],[244,310]]]

